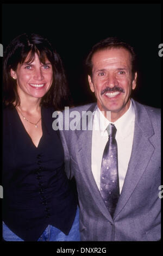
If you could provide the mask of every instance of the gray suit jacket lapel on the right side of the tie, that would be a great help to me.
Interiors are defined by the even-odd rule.
[[[118,200],[114,218],[120,214],[124,205],[126,205],[131,194],[134,192],[143,172],[148,165],[154,152],[154,147],[150,138],[154,135],[151,120],[148,113],[142,105],[133,101],[135,107],[135,129],[133,139],[133,149],[128,165],[126,178],[124,180],[121,196]]]

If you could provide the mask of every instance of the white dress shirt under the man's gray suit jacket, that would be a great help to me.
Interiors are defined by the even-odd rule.
[[[104,114],[102,114],[97,107],[93,119],[91,167],[98,189],[100,189],[102,156],[108,141],[106,127],[109,123],[109,120],[104,117]],[[118,150],[118,175],[121,193],[133,147],[135,125],[135,110],[133,103],[130,103],[127,112],[112,124],[114,124],[117,129],[115,138]]]

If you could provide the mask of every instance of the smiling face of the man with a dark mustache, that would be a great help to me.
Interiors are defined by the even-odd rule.
[[[92,56],[91,91],[99,109],[111,111],[116,119],[129,108],[131,90],[136,87],[137,74],[133,80],[131,69],[131,55],[124,48],[105,49]]]

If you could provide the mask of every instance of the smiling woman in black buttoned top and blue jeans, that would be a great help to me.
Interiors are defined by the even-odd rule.
[[[52,129],[52,113],[68,102],[61,59],[47,39],[22,34],[3,74],[3,239],[79,241],[77,198]]]

